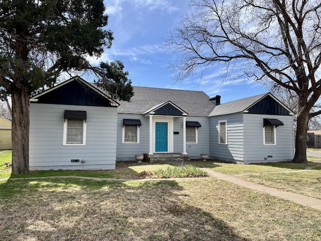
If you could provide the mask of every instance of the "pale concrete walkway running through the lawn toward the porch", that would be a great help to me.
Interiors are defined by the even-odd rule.
[[[171,163],[171,164],[174,164],[177,166],[181,165],[181,162],[178,162],[178,161],[170,161],[168,163]],[[209,170],[206,168],[201,168],[201,169],[207,171],[208,174],[210,175],[210,177],[218,178],[220,180],[227,181],[227,182],[232,182],[232,183],[235,183],[235,184],[240,185],[242,187],[246,187],[246,188],[256,190],[259,192],[264,192],[264,193],[270,194],[275,197],[279,197],[279,198],[282,198],[282,199],[285,199],[285,200],[288,200],[291,202],[295,202],[300,205],[304,205],[304,206],[308,206],[308,207],[311,207],[314,209],[321,210],[321,200],[319,200],[319,199],[304,196],[301,194],[296,194],[293,192],[281,191],[276,188],[267,187],[267,186],[263,186],[260,184],[256,184],[254,182],[245,181],[243,179],[229,176],[229,175],[226,175],[223,173],[215,172],[215,171],[212,171],[212,170]]]

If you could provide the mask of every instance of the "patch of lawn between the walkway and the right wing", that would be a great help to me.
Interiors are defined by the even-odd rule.
[[[197,167],[205,167],[213,171],[234,175],[257,184],[321,199],[320,158],[309,158],[308,161],[308,164],[278,162],[251,165],[218,161],[192,161],[191,163]],[[308,166],[318,167],[310,171],[292,172],[304,170]]]

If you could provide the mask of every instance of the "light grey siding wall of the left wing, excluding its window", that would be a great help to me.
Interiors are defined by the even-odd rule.
[[[86,145],[63,145],[65,109],[87,111]],[[115,169],[117,108],[31,103],[30,123],[30,170]]]

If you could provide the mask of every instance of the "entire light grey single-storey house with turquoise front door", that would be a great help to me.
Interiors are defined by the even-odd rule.
[[[222,103],[203,91],[133,87],[112,100],[80,77],[30,99],[30,169],[113,169],[115,162],[197,158],[289,161],[292,111],[272,94]]]

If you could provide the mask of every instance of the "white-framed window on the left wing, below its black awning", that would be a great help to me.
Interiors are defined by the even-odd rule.
[[[65,119],[63,145],[86,145],[85,119]]]

